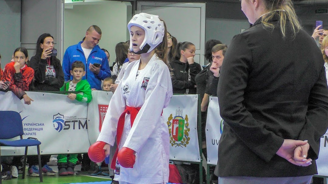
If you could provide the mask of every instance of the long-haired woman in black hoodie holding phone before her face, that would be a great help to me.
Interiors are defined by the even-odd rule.
[[[34,70],[33,88],[35,91],[59,91],[64,84],[64,73],[60,60],[56,58],[57,50],[53,52],[53,36],[44,33],[36,42],[35,55],[29,66]],[[31,89],[30,89],[31,90]]]

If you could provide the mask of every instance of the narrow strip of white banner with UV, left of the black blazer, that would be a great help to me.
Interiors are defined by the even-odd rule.
[[[223,120],[220,116],[219,102],[217,97],[210,96],[210,103],[207,108],[206,119],[206,147],[207,147],[207,163],[217,163],[217,149],[223,130]],[[220,130],[218,131],[218,128]]]

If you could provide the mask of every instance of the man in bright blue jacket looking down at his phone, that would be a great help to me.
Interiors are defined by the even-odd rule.
[[[101,39],[101,29],[92,25],[85,34],[85,40],[76,45],[69,46],[63,58],[63,70],[65,81],[72,80],[70,74],[72,63],[82,61],[86,66],[86,79],[91,88],[101,90],[101,80],[111,75],[111,69],[104,51],[97,45]]]

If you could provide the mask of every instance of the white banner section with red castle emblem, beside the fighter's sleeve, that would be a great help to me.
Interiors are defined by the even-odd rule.
[[[97,141],[113,92],[92,91],[88,106],[88,135],[91,144]]]

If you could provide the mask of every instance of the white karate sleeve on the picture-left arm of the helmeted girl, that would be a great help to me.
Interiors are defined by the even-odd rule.
[[[114,145],[118,118],[125,110],[125,107],[125,99],[121,92],[121,85],[119,84],[109,102],[108,110],[97,141],[106,142],[112,146]]]

